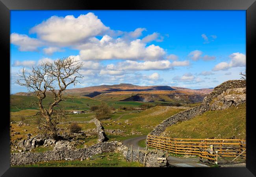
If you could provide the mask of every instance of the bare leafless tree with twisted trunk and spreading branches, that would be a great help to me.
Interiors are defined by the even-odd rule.
[[[38,66],[32,68],[32,72],[26,74],[26,70],[22,70],[22,74],[18,74],[20,79],[15,83],[25,86],[29,92],[33,92],[38,99],[38,106],[41,115],[46,120],[46,125],[52,133],[55,140],[59,140],[56,131],[56,124],[52,122],[52,114],[54,107],[65,100],[63,91],[70,85],[78,83],[78,78],[83,76],[79,74],[82,68],[80,61],[75,61],[72,57],[64,57],[57,59],[54,63],[48,61],[42,62]],[[46,91],[52,93],[54,101],[50,102],[48,106],[44,106],[42,101],[46,98]]]

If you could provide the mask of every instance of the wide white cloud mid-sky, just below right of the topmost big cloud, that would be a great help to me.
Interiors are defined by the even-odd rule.
[[[160,60],[163,59],[165,51],[154,44],[146,46],[140,39],[126,41],[121,38],[113,39],[104,35],[101,40],[96,38],[79,46],[80,57],[83,60]]]

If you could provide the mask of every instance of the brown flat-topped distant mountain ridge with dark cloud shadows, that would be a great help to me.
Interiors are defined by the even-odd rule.
[[[87,96],[100,101],[201,102],[212,89],[187,89],[167,85],[139,86],[127,83],[100,85],[65,90],[64,94]],[[50,93],[48,93],[50,94]],[[16,95],[32,95],[19,92]]]

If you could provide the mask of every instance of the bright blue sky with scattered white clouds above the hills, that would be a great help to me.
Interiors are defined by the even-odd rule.
[[[132,83],[190,89],[239,79],[246,11],[11,11],[11,94],[24,67],[72,56],[76,87]],[[72,88],[70,86],[69,88]]]

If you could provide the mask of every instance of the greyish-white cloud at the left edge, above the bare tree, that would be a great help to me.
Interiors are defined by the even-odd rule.
[[[10,36],[11,44],[19,46],[20,51],[36,51],[43,43],[38,39],[28,37],[28,35],[12,33]]]

